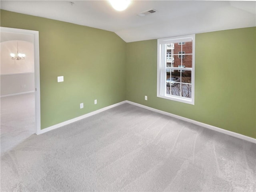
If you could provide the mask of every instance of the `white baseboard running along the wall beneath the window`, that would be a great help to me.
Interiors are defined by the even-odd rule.
[[[148,109],[148,110],[151,110],[151,111],[154,111],[154,112],[158,112],[158,113],[161,113],[161,114],[164,114],[164,115],[167,115],[167,116],[171,116],[171,117],[174,117],[174,118],[186,121],[186,122],[190,122],[190,123],[202,126],[204,128],[208,128],[208,129],[211,129],[211,130],[214,130],[214,131],[217,131],[217,132],[221,132],[221,133],[224,133],[224,134],[236,137],[236,138],[240,138],[242,140],[246,140],[246,141],[249,141],[249,142],[252,142],[252,143],[256,143],[256,139],[245,136],[245,135],[242,135],[242,134],[238,134],[238,133],[235,133],[235,132],[232,132],[232,131],[228,131],[228,130],[218,128],[218,127],[215,127],[215,126],[212,126],[212,125],[201,123],[201,122],[198,122],[198,121],[195,121],[195,120],[192,120],[192,119],[188,119],[188,118],[178,116],[178,115],[175,115],[175,114],[172,114],[172,113],[164,112],[164,111],[161,111],[161,110],[158,110],[158,109],[155,109],[155,108],[151,108],[151,107],[148,107],[148,106],[145,106],[145,105],[142,105],[142,104],[134,103],[134,102],[131,102],[131,101],[126,101],[126,103],[129,103],[129,104],[141,107],[141,108],[145,108],[145,109]]]

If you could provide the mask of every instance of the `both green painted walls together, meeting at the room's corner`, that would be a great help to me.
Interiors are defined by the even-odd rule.
[[[157,40],[125,43],[113,32],[5,10],[1,26],[39,31],[42,129],[130,100],[256,138],[255,27],[196,34],[190,105],[156,97]]]

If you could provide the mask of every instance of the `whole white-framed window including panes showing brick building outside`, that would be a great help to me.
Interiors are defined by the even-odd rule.
[[[158,97],[194,105],[194,52],[194,34],[158,39]]]

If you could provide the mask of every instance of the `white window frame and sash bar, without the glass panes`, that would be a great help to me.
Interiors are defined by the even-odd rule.
[[[195,34],[157,40],[157,97],[194,105],[195,88]],[[171,70],[191,71],[191,98],[166,94],[166,44],[192,41],[192,68],[171,67]],[[169,68],[168,68],[169,69]]]

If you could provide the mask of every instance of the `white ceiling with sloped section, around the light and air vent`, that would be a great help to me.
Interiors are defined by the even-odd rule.
[[[256,26],[256,1],[133,0],[123,12],[115,11],[106,0],[1,0],[0,6],[112,31],[126,42]],[[157,12],[137,16],[150,9]]]

